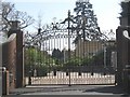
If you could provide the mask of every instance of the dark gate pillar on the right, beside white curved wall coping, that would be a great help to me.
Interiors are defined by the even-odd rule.
[[[117,30],[117,85],[126,92],[130,89],[130,27],[120,26]]]

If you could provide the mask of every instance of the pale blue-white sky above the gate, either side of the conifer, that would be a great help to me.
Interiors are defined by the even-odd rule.
[[[27,12],[35,19],[38,14],[42,16],[42,24],[52,23],[53,17],[56,22],[66,18],[67,11],[70,10],[74,14],[76,0],[3,0],[15,3],[16,10]],[[119,26],[119,13],[121,0],[90,0],[93,4],[94,14],[98,17],[98,24],[101,30],[114,31]],[[34,29],[34,26],[29,29]]]

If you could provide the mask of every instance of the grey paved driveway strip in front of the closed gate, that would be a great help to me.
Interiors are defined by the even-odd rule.
[[[116,97],[122,97],[125,93],[122,88],[114,85],[31,85],[12,89],[10,95],[116,95]]]

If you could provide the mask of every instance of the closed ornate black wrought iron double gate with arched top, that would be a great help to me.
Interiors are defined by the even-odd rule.
[[[25,34],[26,83],[115,84],[115,41],[103,34],[84,39],[67,26],[54,23]]]

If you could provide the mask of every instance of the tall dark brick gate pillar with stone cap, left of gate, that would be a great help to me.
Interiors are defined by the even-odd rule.
[[[8,37],[16,33],[16,87],[24,86],[24,65],[23,65],[23,31],[21,31],[18,20],[11,22],[12,26]]]

